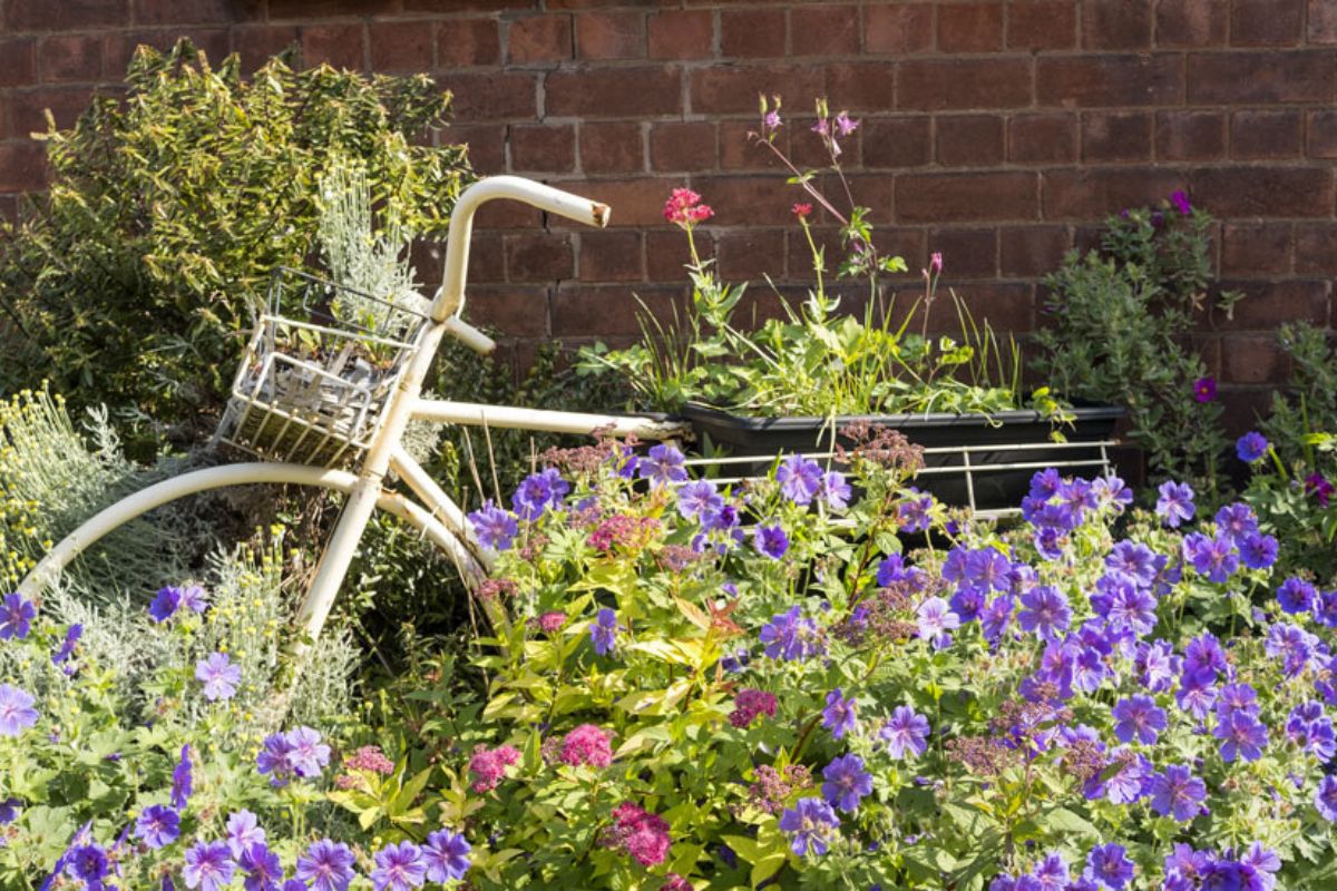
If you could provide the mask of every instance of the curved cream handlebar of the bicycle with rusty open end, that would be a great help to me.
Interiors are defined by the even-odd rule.
[[[437,322],[455,315],[464,306],[464,279],[469,267],[469,236],[473,234],[473,214],[484,202],[497,198],[524,202],[550,214],[599,228],[608,224],[608,215],[612,212],[607,204],[523,176],[489,176],[473,183],[456,200],[451,216],[441,290],[432,301],[432,318]]]

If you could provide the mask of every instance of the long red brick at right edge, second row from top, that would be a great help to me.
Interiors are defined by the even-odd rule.
[[[1187,67],[1195,104],[1332,102],[1337,57],[1330,51],[1190,53]]]

